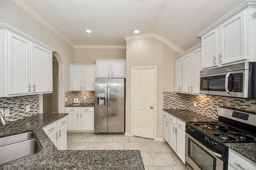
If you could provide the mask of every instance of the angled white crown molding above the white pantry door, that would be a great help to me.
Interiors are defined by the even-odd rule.
[[[148,38],[148,37],[151,37],[151,38],[157,39],[159,41],[162,41],[163,43],[165,43],[166,45],[168,45],[169,47],[174,49],[179,54],[184,52],[184,50],[182,50],[180,47],[178,47],[177,45],[175,45],[174,43],[172,43],[168,39],[166,39],[166,38],[164,38],[160,35],[157,35],[155,33],[145,33],[145,34],[141,34],[141,35],[134,35],[134,36],[130,36],[130,37],[124,37],[124,39],[126,41],[130,41],[130,40],[134,40],[134,39],[141,39],[141,38]]]

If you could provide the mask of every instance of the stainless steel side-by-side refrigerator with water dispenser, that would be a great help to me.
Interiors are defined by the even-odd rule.
[[[124,133],[125,79],[96,78],[95,133]]]

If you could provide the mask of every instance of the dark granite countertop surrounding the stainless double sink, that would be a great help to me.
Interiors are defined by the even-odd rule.
[[[67,113],[39,113],[0,126],[0,137],[32,131],[42,147],[37,154],[1,165],[0,169],[142,169],[139,150],[57,150],[42,127]]]

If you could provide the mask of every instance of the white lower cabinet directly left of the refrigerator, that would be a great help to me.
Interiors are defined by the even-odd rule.
[[[68,131],[94,131],[94,107],[66,107]]]

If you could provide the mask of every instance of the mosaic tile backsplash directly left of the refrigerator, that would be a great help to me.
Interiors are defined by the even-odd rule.
[[[86,99],[84,99],[86,96]],[[74,98],[78,98],[81,103],[94,103],[95,92],[65,92],[65,98],[68,98],[68,102],[65,102],[65,106],[73,103]]]

